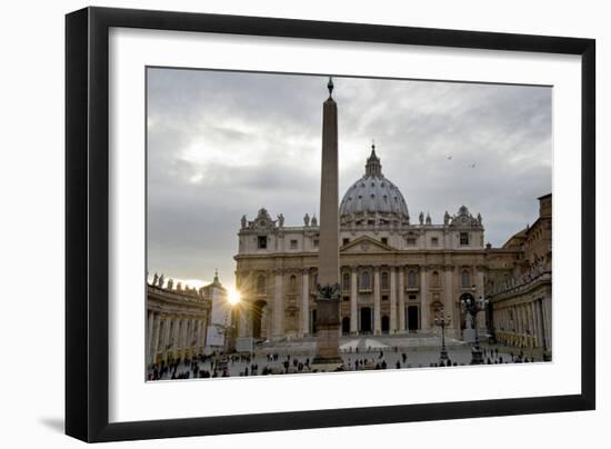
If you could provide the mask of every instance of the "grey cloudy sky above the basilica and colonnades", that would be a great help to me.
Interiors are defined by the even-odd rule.
[[[240,218],[318,216],[327,78],[148,69],[148,270],[233,285]],[[334,78],[340,196],[374,139],[412,222],[465,204],[502,245],[551,192],[551,88]],[[450,159],[451,158],[451,159]],[[474,167],[472,167],[474,164]]]

